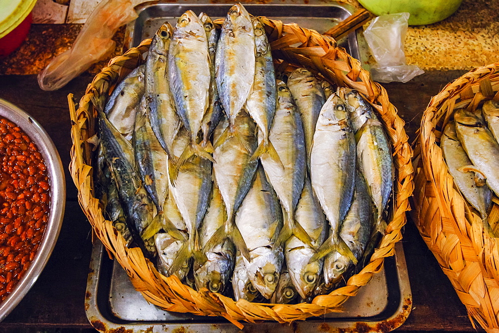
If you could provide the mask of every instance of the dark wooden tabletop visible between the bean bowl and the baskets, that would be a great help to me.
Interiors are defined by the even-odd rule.
[[[462,71],[433,72],[412,82],[385,84],[392,103],[407,122],[411,142],[421,113],[450,80]],[[30,113],[54,141],[66,170],[67,204],[64,223],[52,256],[37,282],[21,303],[0,324],[12,329],[90,329],[85,317],[84,297],[90,261],[90,226],[76,201],[69,177],[70,124],[66,96],[83,95],[91,76],[81,76],[55,92],[38,88],[34,75],[0,76],[0,98]],[[413,309],[399,331],[474,331],[466,309],[438,266],[433,254],[409,220],[404,230],[404,250],[413,294]]]

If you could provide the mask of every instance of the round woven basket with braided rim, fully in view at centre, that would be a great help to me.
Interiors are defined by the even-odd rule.
[[[138,47],[128,50],[124,55],[113,58],[109,66],[99,73],[88,85],[86,94],[75,110],[71,95],[68,96],[71,113],[70,172],[78,188],[78,200],[88,217],[95,234],[102,241],[108,253],[125,269],[133,286],[144,298],[162,309],[204,316],[222,316],[238,327],[239,321],[255,322],[274,320],[290,323],[341,311],[341,305],[359,288],[369,282],[371,277],[383,267],[385,257],[394,254],[394,245],[402,239],[401,228],[406,222],[409,210],[409,197],[413,192],[412,150],[404,131],[404,122],[398,117],[397,110],[390,104],[387,93],[379,84],[371,81],[369,72],[361,68],[359,61],[352,58],[336,41],[314,30],[296,24],[283,24],[281,21],[261,17],[265,25],[273,57],[280,63],[278,69],[288,66],[304,66],[322,75],[338,86],[359,90],[372,103],[382,118],[386,133],[393,147],[396,179],[394,196],[388,217],[388,228],[370,262],[346,282],[346,286],[328,295],[317,296],[311,304],[275,305],[255,304],[245,300],[233,299],[208,290],[195,291],[183,285],[175,276],[165,277],[158,273],[154,265],[144,258],[139,248],[127,248],[121,234],[112,222],[105,220],[94,197],[92,179],[93,145],[88,139],[95,134],[96,110],[93,103],[102,94],[106,96],[111,88],[131,69],[139,65],[142,54],[147,52],[150,39]],[[220,24],[221,21],[216,22]],[[297,47],[291,45],[299,45]]]

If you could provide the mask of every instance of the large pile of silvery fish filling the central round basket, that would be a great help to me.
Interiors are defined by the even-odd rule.
[[[276,74],[270,51],[241,4],[221,28],[192,11],[163,24],[145,63],[96,102],[95,183],[105,217],[162,274],[290,303],[366,260],[393,166],[358,92],[305,68]]]

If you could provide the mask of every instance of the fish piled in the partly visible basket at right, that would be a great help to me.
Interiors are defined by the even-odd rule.
[[[475,111],[458,109],[442,134],[441,147],[454,183],[479,212],[484,229],[496,237],[487,216],[492,194],[499,196],[499,102],[489,100]]]

